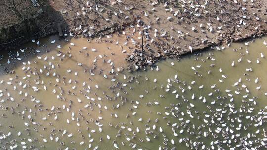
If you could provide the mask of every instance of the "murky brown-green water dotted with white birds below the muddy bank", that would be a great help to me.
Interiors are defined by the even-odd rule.
[[[54,39],[56,39],[55,44],[47,42]],[[47,44],[47,47],[41,46],[42,51],[37,53],[38,56],[42,57],[41,59],[30,54],[31,57],[26,59],[22,57],[22,61],[26,65],[23,65],[22,61],[8,65],[6,64],[7,56],[5,56],[0,62],[2,73],[0,80],[3,80],[3,83],[0,84],[0,90],[2,90],[0,93],[3,93],[3,96],[0,97],[0,114],[3,114],[0,117],[0,136],[3,137],[3,134],[7,135],[8,132],[11,135],[5,139],[0,139],[1,147],[10,149],[10,146],[17,143],[17,149],[20,150],[22,146],[27,146],[28,149],[44,150],[54,150],[55,148],[89,150],[89,145],[91,145],[91,150],[96,146],[99,150],[112,150],[116,149],[113,145],[113,140],[115,140],[114,142],[121,150],[134,149],[133,146],[136,146],[135,149],[143,150],[158,150],[159,146],[161,148],[166,147],[168,150],[173,147],[176,147],[177,150],[189,150],[191,149],[190,145],[194,149],[196,149],[196,144],[198,144],[198,149],[205,145],[205,149],[207,149],[207,147],[212,148],[212,141],[221,141],[222,143],[213,144],[215,149],[218,149],[219,146],[229,150],[227,143],[231,143],[232,146],[230,147],[237,145],[233,144],[235,143],[234,139],[240,142],[241,137],[246,137],[248,141],[255,141],[257,138],[264,137],[262,130],[266,128],[266,122],[264,122],[266,121],[264,118],[266,114],[255,116],[255,118],[262,117],[262,125],[257,128],[254,127],[254,124],[259,123],[260,120],[258,122],[250,121],[250,119],[246,119],[246,116],[256,115],[261,112],[260,109],[267,106],[267,96],[265,96],[267,92],[267,85],[265,84],[267,80],[267,72],[265,71],[267,68],[267,47],[263,44],[264,40],[267,41],[267,37],[257,39],[253,43],[248,41],[248,46],[244,44],[245,42],[233,43],[224,50],[203,51],[202,56],[196,53],[184,56],[180,61],[163,60],[157,64],[159,71],[156,71],[157,67],[154,67],[153,71],[147,67],[146,71],[134,73],[129,73],[126,70],[117,71],[117,68],[122,70],[121,66],[127,67],[127,63],[121,59],[126,53],[121,51],[125,49],[129,52],[128,46],[131,46],[128,43],[127,46],[120,47],[125,42],[123,37],[114,36],[112,39],[113,43],[96,43],[95,41],[88,43],[86,39],[59,42],[57,37],[52,36],[41,40],[42,43]],[[117,40],[119,44],[115,45]],[[71,46],[70,42],[75,43],[75,46]],[[61,45],[60,49],[57,48],[59,44]],[[29,43],[25,46],[30,47],[31,45],[33,44]],[[68,47],[71,47],[71,50]],[[87,49],[83,50],[82,47],[87,47]],[[96,52],[91,51],[91,49],[96,49]],[[237,51],[233,51],[233,49],[237,49]],[[248,49],[248,53],[246,49]],[[50,52],[46,53],[45,50],[50,50]],[[29,53],[29,51],[31,50],[28,49],[25,53]],[[111,53],[115,53],[115,55],[111,55]],[[260,53],[266,57],[261,58]],[[69,57],[70,54],[71,57]],[[210,59],[207,59],[208,56]],[[238,62],[241,57],[241,62]],[[196,58],[198,60],[195,60]],[[256,62],[257,58],[259,58],[260,63]],[[104,59],[105,62],[103,62]],[[31,64],[28,64],[28,60]],[[251,63],[247,60],[250,60]],[[233,61],[234,66],[231,66]],[[173,65],[171,65],[172,62]],[[78,65],[79,63],[82,63],[81,66]],[[211,64],[214,64],[214,67],[210,67]],[[25,69],[22,70],[24,66]],[[112,66],[114,66],[114,73],[109,74],[112,71]],[[192,66],[198,72],[196,75]],[[14,69],[15,73],[5,75],[3,73],[4,67]],[[90,73],[90,69],[93,67],[96,69]],[[40,72],[40,68],[42,68],[43,73]],[[220,68],[222,72],[219,71]],[[246,71],[247,68],[252,68],[253,71]],[[67,70],[71,70],[71,72],[68,73]],[[100,70],[103,71],[99,75]],[[210,74],[208,74],[209,70]],[[48,72],[49,75],[47,76],[46,73]],[[36,73],[39,74],[39,77]],[[53,76],[54,73],[55,76]],[[247,76],[243,75],[244,73]],[[104,74],[107,75],[107,78],[103,77]],[[124,79],[124,75],[126,79]],[[180,82],[175,79],[175,75],[178,76]],[[226,78],[223,78],[222,75]],[[132,81],[130,76],[133,77]],[[25,79],[23,79],[24,77]],[[116,80],[111,81],[112,78]],[[232,86],[240,78],[240,83],[237,86]],[[257,83],[255,83],[256,78],[258,78]],[[154,82],[154,79],[157,81]],[[192,81],[195,83],[191,84]],[[8,82],[11,85],[8,85]],[[211,88],[214,84],[216,86]],[[98,88],[96,88],[97,85]],[[34,86],[39,89],[37,92],[34,91]],[[130,87],[132,88],[130,89]],[[257,87],[260,89],[257,90]],[[226,89],[231,90],[231,92],[226,92]],[[20,91],[22,92],[20,93]],[[28,96],[25,96],[25,93]],[[212,95],[209,96],[210,93]],[[179,94],[178,98],[176,98],[176,94]],[[106,95],[111,98],[107,99]],[[164,95],[164,97],[160,97],[160,95]],[[202,98],[200,98],[201,96]],[[257,98],[253,98],[253,96]],[[205,103],[203,102],[204,99],[206,100]],[[159,104],[156,105],[155,102]],[[52,110],[53,106],[54,109]],[[211,109],[208,108],[209,106]],[[254,110],[248,113],[249,108]],[[205,114],[203,111],[207,113]],[[266,112],[266,109],[262,112]],[[67,123],[67,119],[69,123]],[[155,122],[156,119],[158,122]],[[186,120],[190,120],[190,122]],[[223,123],[220,122],[222,120]],[[239,120],[242,122],[238,122]],[[248,125],[249,123],[251,126]],[[99,129],[100,126],[102,130]],[[199,128],[199,126],[202,127]],[[244,126],[246,126],[245,129]],[[136,131],[137,127],[140,130],[139,133]],[[160,128],[162,128],[162,132]],[[216,133],[218,128],[222,131]],[[230,133],[231,131],[229,132],[227,128],[233,130],[234,133]],[[180,133],[182,129],[184,132]],[[248,133],[252,134],[258,129],[260,129],[260,133],[257,134],[257,138],[248,138]],[[62,135],[64,130],[67,132]],[[92,130],[95,130],[95,133],[92,133]],[[22,134],[18,136],[18,132]],[[190,132],[192,135],[189,134]],[[207,137],[204,137],[204,132],[207,133]],[[224,139],[223,136],[226,135],[226,132],[230,137],[232,135],[235,137],[231,141],[230,138]],[[89,133],[90,137],[88,136]],[[177,136],[174,133],[177,133]],[[216,133],[217,136],[214,137],[212,133]],[[70,134],[72,137],[67,136]],[[239,137],[237,137],[238,134],[240,134]],[[110,136],[110,140],[107,139],[107,135]],[[58,141],[56,142],[57,137]],[[101,137],[102,142],[100,142]],[[29,139],[33,140],[34,138],[37,139],[37,142],[30,142]],[[150,142],[147,138],[150,139]],[[184,138],[184,141],[179,143],[181,138]],[[16,142],[12,142],[12,139],[15,139]],[[47,142],[44,142],[43,139],[46,139]],[[172,144],[172,139],[174,144]],[[141,142],[142,140],[143,142]],[[166,142],[166,146],[163,141]],[[22,145],[21,142],[26,142],[26,144]],[[124,142],[124,146],[122,142]],[[186,143],[189,144],[189,147],[186,146]],[[258,145],[260,143],[257,142],[251,144],[252,147]],[[30,146],[35,147],[30,148]],[[241,149],[241,147],[239,148]]]

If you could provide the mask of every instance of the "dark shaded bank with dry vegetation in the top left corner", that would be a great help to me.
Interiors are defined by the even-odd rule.
[[[58,27],[68,32],[65,18],[49,5],[48,0],[39,0],[37,5],[33,5],[30,0],[14,1],[17,5],[14,10],[18,14],[8,8],[12,3],[7,2],[5,6],[0,4],[1,49],[13,49],[31,39],[57,34]]]

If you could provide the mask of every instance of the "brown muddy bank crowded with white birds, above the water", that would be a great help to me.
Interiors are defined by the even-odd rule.
[[[48,1],[53,13],[58,14],[54,20],[66,19],[62,23],[65,26],[62,28],[63,34],[72,33],[74,38],[94,39],[115,33],[123,36],[122,31],[132,32],[134,29],[130,38],[136,39],[137,33],[140,36],[140,32],[144,30],[144,51],[141,50],[142,43],[138,41],[125,58],[137,69],[154,65],[160,59],[179,58],[191,51],[267,35],[267,4],[262,3],[263,0],[239,3],[231,0],[209,3],[177,3],[172,0],[90,0],[88,3],[78,3],[75,0]],[[66,13],[62,13],[62,10]],[[52,32],[47,33],[46,30],[34,38],[59,32],[58,29],[61,28],[57,26],[58,24],[53,24],[47,29]],[[152,36],[154,30],[157,30],[157,36]],[[20,40],[19,44],[29,40]],[[126,41],[130,41],[129,37],[126,37]],[[2,48],[12,49],[19,44],[4,45]],[[132,70],[132,67],[129,69]]]

